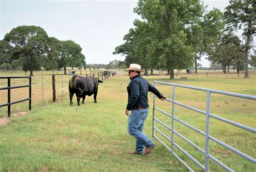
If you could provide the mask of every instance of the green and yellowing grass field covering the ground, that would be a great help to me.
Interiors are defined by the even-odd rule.
[[[134,139],[127,133],[127,116],[124,114],[127,103],[126,87],[128,76],[117,75],[100,83],[97,104],[93,97],[86,97],[85,105],[69,106],[68,80],[63,76],[64,96],[62,97],[62,76],[56,75],[57,102],[52,103],[51,75],[44,74],[44,105],[42,105],[42,76],[35,73],[32,82],[32,111],[28,111],[28,102],[11,106],[11,122],[0,126],[0,171],[187,171],[164,146],[152,138],[153,96],[149,94],[150,112],[145,121],[144,132],[156,142],[152,153],[146,156],[130,155]],[[4,75],[24,75],[23,73],[0,73]],[[188,77],[181,80],[180,76]],[[256,73],[250,78],[244,74],[221,74],[221,72],[198,74],[179,73],[178,78],[169,80],[169,76],[158,74],[145,77],[150,83],[154,80],[191,85],[202,88],[256,95]],[[27,84],[28,80],[14,80],[12,85]],[[167,98],[172,97],[172,88],[156,85]],[[6,87],[0,81],[0,87]],[[12,101],[28,97],[28,89],[14,89]],[[6,103],[6,90],[0,91],[0,104]],[[176,100],[201,110],[206,110],[206,92],[177,88]],[[159,100],[156,106],[171,113],[171,103]],[[0,118],[6,117],[6,107],[1,107]],[[26,115],[14,116],[14,113],[26,111]],[[255,101],[230,96],[212,95],[211,113],[238,123],[256,128]],[[205,116],[176,106],[177,118],[205,131]],[[171,119],[156,111],[156,117],[170,126]],[[166,135],[170,131],[156,124]],[[174,122],[175,130],[204,149],[205,139],[200,134]],[[156,133],[157,134],[157,133]],[[228,145],[256,157],[256,136],[215,119],[210,119],[210,134]],[[159,138],[160,134],[157,135]],[[200,163],[204,164],[204,155],[174,135],[174,141]],[[170,144],[164,140],[166,145]],[[202,171],[177,148],[174,149],[181,159],[195,171]],[[210,154],[224,162],[235,171],[256,171],[256,165],[210,141]],[[224,171],[210,161],[211,171]]]

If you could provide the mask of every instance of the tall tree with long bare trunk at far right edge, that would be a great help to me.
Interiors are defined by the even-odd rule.
[[[243,28],[246,35],[245,46],[245,78],[249,78],[248,63],[249,51],[252,42],[252,35],[256,30],[256,4],[254,0],[230,1],[224,12],[228,30],[237,30]]]

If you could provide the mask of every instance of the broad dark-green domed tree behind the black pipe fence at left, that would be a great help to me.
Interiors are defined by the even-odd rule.
[[[6,34],[4,41],[11,46],[11,53],[14,59],[19,59],[23,70],[30,71],[40,69],[40,58],[42,54],[47,54],[50,46],[48,35],[39,26],[18,26]]]

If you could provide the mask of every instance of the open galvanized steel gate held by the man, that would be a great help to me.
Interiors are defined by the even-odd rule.
[[[253,162],[254,164],[256,163],[256,160],[245,154],[240,152],[240,150],[237,150],[233,147],[231,147],[230,145],[225,144],[224,142],[212,137],[209,133],[209,127],[210,127],[210,117],[211,118],[215,118],[217,120],[223,121],[225,123],[231,124],[233,126],[237,126],[239,128],[242,128],[244,130],[250,131],[252,133],[256,133],[256,129],[246,126],[246,125],[242,125],[239,123],[236,123],[234,121],[216,116],[215,114],[210,113],[210,103],[211,103],[211,93],[214,94],[221,94],[221,95],[227,95],[227,96],[234,96],[234,97],[240,97],[240,98],[245,98],[245,99],[251,99],[251,100],[256,100],[256,96],[250,96],[250,95],[243,95],[243,94],[236,94],[233,92],[226,92],[226,91],[219,91],[219,90],[212,90],[212,89],[204,89],[204,88],[199,88],[199,87],[191,87],[191,86],[186,86],[186,85],[180,85],[180,84],[172,84],[172,83],[165,83],[165,82],[158,82],[158,81],[154,81],[154,87],[156,87],[156,83],[159,84],[164,84],[164,85],[171,85],[173,87],[172,90],[172,99],[168,99],[166,98],[165,100],[168,102],[172,103],[172,114],[168,114],[165,111],[159,109],[158,107],[156,107],[156,96],[154,96],[153,98],[153,137],[155,139],[157,139],[159,142],[161,142],[161,144],[163,144],[175,157],[177,157],[177,159],[183,163],[186,168],[190,171],[193,171],[193,169],[191,169],[191,167],[189,167],[176,153],[174,153],[173,151],[173,146],[177,147],[181,152],[183,152],[186,156],[188,156],[193,162],[195,162],[196,164],[198,164],[198,166],[203,169],[204,171],[209,171],[209,159],[213,160],[215,163],[218,163],[221,167],[223,167],[224,169],[226,169],[227,171],[233,171],[230,167],[227,167],[223,162],[219,161],[218,159],[216,159],[214,156],[212,156],[209,152],[209,139],[214,141],[215,143],[227,148],[228,150],[231,150],[232,152],[244,157],[245,159]],[[187,89],[193,89],[193,90],[200,90],[200,91],[206,91],[207,92],[207,103],[206,103],[206,112],[196,109],[194,107],[179,103],[175,101],[175,88],[176,87],[181,87],[181,88],[187,88]],[[199,130],[198,128],[185,123],[184,121],[178,119],[177,117],[174,117],[174,104],[177,104],[179,106],[185,107],[187,109],[190,109],[192,111],[196,111],[199,112],[201,114],[205,114],[206,116],[206,125],[205,125],[205,132]],[[155,117],[155,110],[165,114],[166,116],[171,118],[171,127],[166,125],[165,123],[163,123],[162,121],[160,121],[159,119],[157,119]],[[183,135],[181,135],[180,133],[178,133],[176,130],[174,130],[174,120],[178,121],[179,123],[191,128],[192,130],[198,132],[201,135],[204,135],[205,137],[205,149],[200,148],[199,146],[197,146],[196,144],[194,144],[192,141],[188,140],[187,138],[185,138]],[[164,127],[166,127],[167,129],[169,129],[171,131],[171,138],[169,138],[166,134],[164,134],[163,132],[161,132],[155,125],[155,122],[160,123],[161,125],[163,125]],[[155,131],[157,131],[158,133],[160,133],[161,135],[163,135],[164,138],[166,138],[168,141],[171,142],[171,147],[168,147],[166,144],[164,144],[164,142],[162,140],[160,140],[156,135],[155,135]],[[184,141],[188,142],[188,144],[192,145],[194,148],[198,149],[201,153],[203,153],[205,155],[205,166],[203,164],[201,164],[200,162],[198,162],[198,160],[194,159],[194,157],[192,157],[190,154],[188,154],[183,148],[181,148],[179,145],[176,144],[176,142],[174,142],[173,140],[173,135],[176,134],[178,135],[178,137],[180,137],[181,139],[183,139]]]

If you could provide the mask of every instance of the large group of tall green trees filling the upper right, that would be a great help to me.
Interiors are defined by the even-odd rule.
[[[136,19],[134,27],[124,35],[125,43],[115,48],[113,54],[125,55],[124,63],[139,63],[146,70],[167,70],[174,78],[174,69],[195,68],[198,60],[208,55],[211,67],[229,67],[237,71],[248,64],[255,66],[251,54],[255,34],[255,2],[230,1],[222,13],[219,9],[206,11],[200,0],[146,1],[139,0],[134,8],[142,20]],[[244,40],[234,34],[242,29]],[[255,54],[255,52],[254,52]]]

